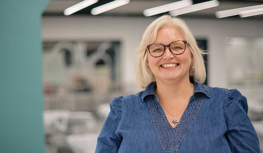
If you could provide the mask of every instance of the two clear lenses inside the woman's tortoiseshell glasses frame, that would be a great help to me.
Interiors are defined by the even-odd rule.
[[[185,50],[185,44],[183,41],[175,41],[170,45],[170,49],[174,54],[181,54]],[[152,56],[158,57],[163,54],[165,48],[161,44],[152,44],[149,47],[149,51]]]

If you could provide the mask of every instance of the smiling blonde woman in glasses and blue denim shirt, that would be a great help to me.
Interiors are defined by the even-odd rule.
[[[202,54],[186,23],[153,21],[137,50],[136,95],[114,98],[96,147],[100,152],[260,152],[246,98],[203,85]]]

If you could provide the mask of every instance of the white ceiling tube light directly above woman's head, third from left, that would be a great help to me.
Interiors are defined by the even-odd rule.
[[[161,5],[161,6],[157,6],[157,7],[153,7],[153,8],[148,8],[148,9],[143,11],[143,15],[144,16],[152,16],[152,15],[172,11],[172,10],[175,10],[178,8],[183,8],[183,7],[192,5],[192,4],[193,4],[192,0],[177,1],[174,3],[169,3],[169,4],[165,4],[165,5]]]

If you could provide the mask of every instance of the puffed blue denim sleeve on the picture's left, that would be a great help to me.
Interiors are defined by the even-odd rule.
[[[114,98],[110,102],[110,113],[106,118],[101,133],[97,139],[95,153],[117,153],[122,138],[118,137],[116,130],[122,117],[123,97]]]

